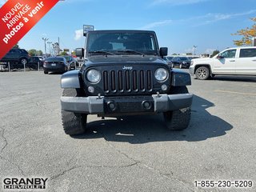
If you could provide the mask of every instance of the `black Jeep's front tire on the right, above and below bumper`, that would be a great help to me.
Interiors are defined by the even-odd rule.
[[[174,86],[170,94],[188,94],[186,86]],[[168,130],[184,130],[190,124],[191,106],[163,113]]]

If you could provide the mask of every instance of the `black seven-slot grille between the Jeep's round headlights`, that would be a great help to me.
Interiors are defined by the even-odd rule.
[[[103,70],[103,90],[109,92],[151,92],[151,70]]]

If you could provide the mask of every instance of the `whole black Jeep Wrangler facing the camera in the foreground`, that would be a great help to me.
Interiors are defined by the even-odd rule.
[[[170,130],[190,123],[190,74],[163,60],[154,31],[92,30],[86,33],[81,70],[62,74],[62,124],[66,134],[82,134],[88,114],[98,117],[163,113]],[[85,55],[84,55],[85,54]]]

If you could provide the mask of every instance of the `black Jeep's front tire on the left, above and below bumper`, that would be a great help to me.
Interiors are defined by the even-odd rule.
[[[81,96],[81,90],[64,89],[62,96],[78,97]],[[62,110],[62,126],[66,134],[83,134],[86,130],[87,114],[73,113]]]

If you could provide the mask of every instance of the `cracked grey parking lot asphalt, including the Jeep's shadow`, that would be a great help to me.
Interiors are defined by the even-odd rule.
[[[0,73],[0,178],[49,178],[46,191],[256,191],[256,77],[193,79],[190,126],[161,114],[102,120],[70,137],[61,122],[61,74]],[[200,188],[201,180],[254,187]],[[2,190],[2,188],[0,188]]]

